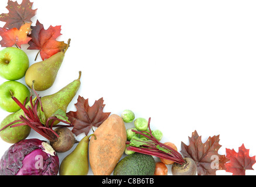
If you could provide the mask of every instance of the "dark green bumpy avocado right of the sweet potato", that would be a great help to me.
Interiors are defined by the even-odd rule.
[[[118,162],[113,175],[153,175],[155,165],[151,155],[134,153]]]

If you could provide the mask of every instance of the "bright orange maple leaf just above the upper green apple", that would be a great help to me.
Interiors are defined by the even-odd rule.
[[[2,40],[0,41],[1,46],[12,47],[13,45],[16,45],[21,48],[22,44],[27,44],[29,40],[31,40],[31,38],[28,37],[28,34],[31,31],[30,26],[31,22],[25,23],[20,29],[6,29],[0,27],[0,36],[2,36]]]

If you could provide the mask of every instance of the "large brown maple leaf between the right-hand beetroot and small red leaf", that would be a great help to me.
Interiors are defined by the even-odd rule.
[[[220,155],[218,150],[220,138],[218,136],[209,137],[202,143],[202,136],[195,130],[192,137],[189,137],[189,146],[182,142],[180,151],[184,157],[192,158],[197,165],[198,175],[216,175],[217,170],[225,169],[224,164],[228,161],[225,155]]]

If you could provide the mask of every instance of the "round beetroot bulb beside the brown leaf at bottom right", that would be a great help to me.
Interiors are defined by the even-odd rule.
[[[185,163],[172,165],[172,175],[196,175],[196,162],[192,158],[184,158]]]

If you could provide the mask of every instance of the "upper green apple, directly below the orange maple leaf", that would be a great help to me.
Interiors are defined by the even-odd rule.
[[[6,47],[0,51],[0,76],[15,81],[24,77],[29,68],[29,58],[17,47]]]

